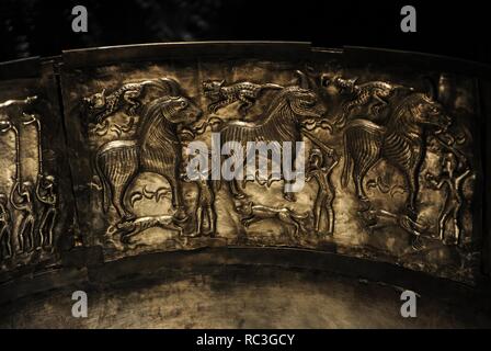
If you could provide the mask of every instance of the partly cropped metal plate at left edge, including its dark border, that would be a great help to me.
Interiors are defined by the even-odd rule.
[[[58,264],[60,251],[73,238],[71,177],[54,65],[38,59],[30,64],[32,71],[10,65],[16,78],[0,81],[2,279],[19,269]]]

